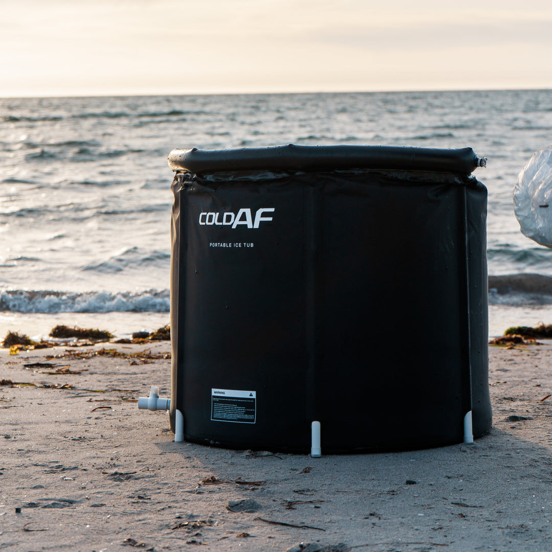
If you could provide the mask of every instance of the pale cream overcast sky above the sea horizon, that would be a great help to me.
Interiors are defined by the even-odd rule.
[[[0,0],[0,96],[552,88],[552,2]]]

